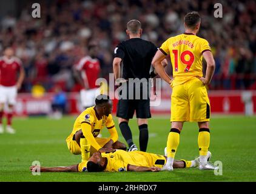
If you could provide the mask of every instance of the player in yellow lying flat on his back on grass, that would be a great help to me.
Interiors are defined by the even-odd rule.
[[[207,159],[211,158],[211,152],[207,153]],[[67,167],[40,167],[30,166],[32,172],[157,172],[166,164],[166,156],[157,155],[155,153],[147,153],[141,151],[126,152],[124,150],[116,150],[113,153],[96,152],[88,161],[81,162],[76,165]],[[197,167],[199,159],[192,161],[184,159],[175,160],[174,168],[191,168]]]

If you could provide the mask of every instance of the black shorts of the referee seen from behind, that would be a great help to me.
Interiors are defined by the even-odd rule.
[[[116,116],[132,119],[136,111],[136,118],[151,118],[150,99],[120,99],[117,104]]]

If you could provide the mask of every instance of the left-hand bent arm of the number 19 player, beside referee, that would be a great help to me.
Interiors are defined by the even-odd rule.
[[[165,58],[166,56],[160,50],[158,50],[153,57],[152,65],[153,68],[155,68],[157,71],[158,75],[160,75],[160,77],[164,79],[164,81],[166,81],[168,84],[170,84],[172,79],[170,79],[170,77],[167,75],[163,65],[161,64],[161,61],[163,61]]]

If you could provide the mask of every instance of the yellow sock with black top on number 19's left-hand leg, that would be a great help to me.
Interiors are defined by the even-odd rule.
[[[172,128],[167,139],[167,165],[173,165],[175,153],[180,144],[180,130]]]

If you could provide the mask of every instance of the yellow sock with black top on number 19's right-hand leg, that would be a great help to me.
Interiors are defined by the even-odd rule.
[[[199,147],[199,158],[201,163],[207,162],[207,152],[210,146],[210,130],[207,128],[199,129],[198,133],[198,147]]]

